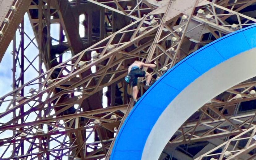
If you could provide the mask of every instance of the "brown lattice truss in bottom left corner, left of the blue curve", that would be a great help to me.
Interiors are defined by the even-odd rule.
[[[115,126],[118,126],[120,123],[120,119],[122,119],[122,116],[119,114],[116,114],[117,111],[126,111],[127,105],[122,105],[122,106],[115,106],[111,108],[105,108],[105,109],[99,109],[99,110],[92,110],[92,111],[87,111],[87,112],[82,112],[82,113],[77,113],[77,114],[71,114],[71,115],[65,115],[62,117],[49,117],[45,118],[42,120],[36,120],[33,122],[28,122],[28,123],[21,123],[17,124],[15,126],[9,125],[9,126],[3,126],[1,127],[1,131],[4,130],[13,130],[16,131],[16,128],[23,128],[23,130],[20,130],[19,132],[16,131],[16,134],[14,137],[10,138],[5,138],[2,139],[1,141],[1,146],[7,146],[7,149],[11,145],[21,145],[24,142],[28,142],[30,145],[29,151],[32,151],[34,149],[38,149],[39,152],[36,153],[27,153],[27,154],[22,154],[20,156],[15,156],[13,155],[13,158],[25,158],[25,157],[30,157],[31,158],[37,158],[38,156],[44,157],[47,159],[48,155],[52,155],[56,159],[61,158],[63,155],[66,155],[67,153],[69,154],[70,151],[74,149],[81,149],[81,146],[76,145],[74,142],[75,141],[81,141],[81,145],[86,145],[86,147],[95,149],[96,150],[93,153],[90,153],[87,155],[87,159],[90,158],[102,158],[105,157],[105,154],[103,155],[93,155],[97,152],[101,152],[102,150],[105,150],[110,144],[112,139],[109,139],[108,141],[95,141],[94,143],[85,143],[83,142],[84,140],[79,139],[79,132],[82,132],[88,136],[85,136],[85,141],[86,139],[92,134],[92,132],[99,130],[101,128],[106,128],[112,132],[114,132]],[[104,116],[101,116],[101,114],[107,113]],[[110,117],[110,118],[108,118]],[[84,122],[84,119],[91,119],[93,120],[92,123],[89,122]],[[65,123],[63,123],[63,120]],[[62,121],[62,122],[61,122]],[[100,122],[105,122],[104,124],[101,124]],[[83,127],[80,127],[81,123],[83,124]],[[39,130],[37,126],[41,126],[46,124],[51,128],[49,132],[45,133],[42,132],[42,130]],[[67,125],[65,125],[67,124]],[[72,126],[74,125],[74,126]],[[71,138],[71,137],[72,138]],[[74,137],[75,136],[75,137]],[[82,136],[82,135],[80,135]],[[63,140],[60,141],[58,140],[59,137],[64,137],[62,138]],[[67,138],[70,137],[70,138]],[[38,141],[43,141],[41,145],[39,145]],[[54,147],[53,149],[49,149],[49,143],[54,141],[55,143],[57,142],[58,145]],[[102,148],[98,147],[98,144],[101,143],[103,145]],[[48,145],[47,145],[48,144]],[[48,146],[48,147],[47,147]],[[20,146],[19,146],[20,147]],[[16,147],[17,152],[19,152],[19,147]],[[45,148],[47,148],[47,151],[45,152]],[[79,152],[77,152],[78,154]],[[34,156],[36,155],[36,156]],[[77,155],[73,155],[77,156]],[[3,159],[9,159],[9,158],[3,158]],[[48,157],[49,159],[49,157]]]

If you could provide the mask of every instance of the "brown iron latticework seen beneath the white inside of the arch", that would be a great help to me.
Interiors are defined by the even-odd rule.
[[[194,113],[174,134],[169,143],[166,145],[164,152],[173,149],[181,149],[181,146],[192,146],[198,142],[208,141],[205,149],[200,152],[203,154],[201,159],[217,158],[222,159],[220,154],[209,154],[207,151],[214,149],[216,146],[223,146],[222,143],[229,141],[233,136],[246,135],[247,130],[255,126],[255,110],[241,110],[241,103],[256,100],[254,78],[247,80],[241,84],[226,90],[217,97],[210,100]],[[253,133],[255,135],[255,133]],[[253,135],[253,136],[254,136]],[[241,145],[230,144],[228,151],[240,150]],[[242,143],[243,144],[243,143]],[[242,147],[244,147],[242,145]],[[226,152],[223,148],[215,148],[214,152]],[[233,149],[233,150],[232,150]],[[253,149],[251,149],[253,150]],[[176,150],[177,151],[177,150]],[[171,153],[171,152],[169,152]],[[204,157],[204,155],[207,156]],[[212,152],[211,152],[212,153]],[[182,153],[181,153],[182,154]],[[188,153],[189,154],[189,153]],[[253,153],[243,152],[240,159],[247,159]],[[166,154],[162,154],[160,159],[164,159]],[[195,159],[196,156],[191,155],[188,159]],[[200,158],[199,158],[200,159]]]

